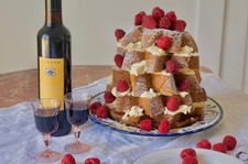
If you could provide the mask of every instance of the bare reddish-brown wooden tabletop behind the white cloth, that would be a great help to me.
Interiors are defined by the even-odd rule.
[[[202,72],[209,73],[206,67]],[[73,88],[109,76],[111,66],[73,66]],[[37,69],[0,74],[0,108],[37,98]]]

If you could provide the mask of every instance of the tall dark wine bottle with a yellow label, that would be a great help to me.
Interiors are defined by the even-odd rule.
[[[72,129],[64,109],[64,95],[72,91],[71,69],[71,33],[62,21],[62,0],[45,0],[45,24],[37,32],[39,98],[62,101],[53,136],[66,135]]]

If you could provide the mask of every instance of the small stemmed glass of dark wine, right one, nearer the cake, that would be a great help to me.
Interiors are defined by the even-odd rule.
[[[74,127],[75,142],[65,146],[65,151],[72,154],[82,154],[89,151],[89,145],[82,143],[80,125],[88,120],[88,108],[91,100],[89,94],[69,92],[65,95],[65,109],[67,120]]]

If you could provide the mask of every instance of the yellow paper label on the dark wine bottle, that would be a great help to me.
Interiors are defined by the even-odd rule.
[[[64,109],[64,58],[40,57],[40,98],[56,98]]]

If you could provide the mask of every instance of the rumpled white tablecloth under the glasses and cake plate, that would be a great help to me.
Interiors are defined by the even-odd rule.
[[[238,140],[237,147],[228,154],[235,156],[239,151],[248,151],[248,96],[213,74],[202,74],[202,86],[207,95],[224,110],[223,120],[217,125],[188,135],[145,138],[119,133],[88,121],[83,125],[80,139],[91,150],[74,155],[77,163],[83,163],[86,157],[97,156],[106,164],[131,164],[141,155],[155,150],[195,147],[195,143],[204,138],[217,143],[226,134],[235,135]],[[104,78],[76,90],[95,95],[105,90],[107,81],[108,78]],[[64,146],[73,141],[73,134],[53,138],[52,149],[66,154]],[[42,134],[35,129],[29,102],[0,110],[0,164],[34,164],[33,156],[43,146]]]

